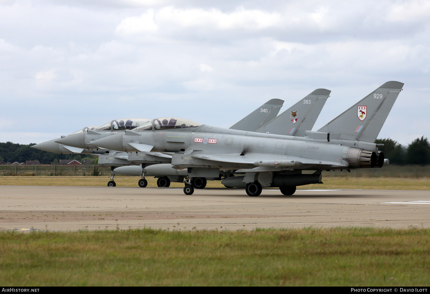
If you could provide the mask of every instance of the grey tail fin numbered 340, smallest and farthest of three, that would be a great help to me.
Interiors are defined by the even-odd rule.
[[[264,126],[278,115],[283,103],[284,101],[281,99],[270,99],[235,123],[230,129],[255,132],[259,127]]]

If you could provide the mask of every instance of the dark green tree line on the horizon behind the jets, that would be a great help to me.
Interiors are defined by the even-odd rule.
[[[384,157],[390,159],[391,164],[430,164],[430,144],[427,138],[416,138],[411,144],[403,146],[393,139],[377,139],[376,144],[384,144],[378,150],[384,152]],[[58,164],[60,159],[98,159],[88,154],[58,154],[31,148],[34,143],[14,144],[12,142],[0,143],[0,161],[25,162],[26,160],[39,160],[41,164]],[[97,162],[97,161],[96,161]]]

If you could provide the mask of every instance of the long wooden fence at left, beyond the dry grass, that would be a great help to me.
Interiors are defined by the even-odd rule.
[[[0,176],[109,176],[98,165],[0,165]]]

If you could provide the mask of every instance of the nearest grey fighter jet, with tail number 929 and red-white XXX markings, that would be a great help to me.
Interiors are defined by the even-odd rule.
[[[218,177],[226,170],[244,175],[222,183],[229,187],[246,184],[249,196],[260,195],[262,187],[279,187],[284,195],[292,195],[296,186],[321,183],[322,170],[381,168],[384,154],[374,142],[402,87],[396,81],[384,83],[318,131],[305,131],[304,137],[224,129],[168,117],[90,145],[125,152],[174,152],[172,165],[187,168],[187,195],[194,192],[192,178]],[[290,114],[285,129],[294,126],[297,114]],[[169,124],[163,124],[164,119]],[[315,172],[303,174],[304,170]]]

